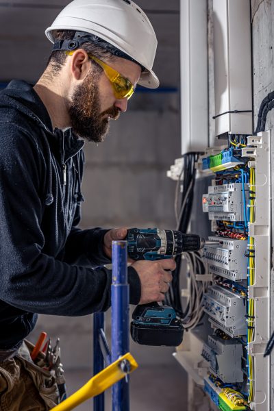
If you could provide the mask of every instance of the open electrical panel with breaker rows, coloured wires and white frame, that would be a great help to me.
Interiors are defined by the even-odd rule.
[[[213,233],[201,255],[206,275],[196,278],[212,282],[203,319],[188,333],[194,343],[184,349],[183,341],[175,358],[219,410],[270,410],[270,154],[270,133],[262,132],[235,135],[198,162],[214,178],[201,195]],[[234,155],[238,164],[227,162]]]

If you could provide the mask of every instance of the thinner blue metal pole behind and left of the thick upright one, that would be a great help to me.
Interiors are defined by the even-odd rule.
[[[104,368],[103,353],[100,347],[101,329],[105,329],[105,314],[96,312],[93,315],[93,375]],[[93,411],[105,410],[105,394],[102,393],[93,399]]]

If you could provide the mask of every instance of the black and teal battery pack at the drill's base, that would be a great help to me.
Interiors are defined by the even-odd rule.
[[[138,344],[177,347],[182,343],[184,328],[169,306],[158,303],[137,306],[132,319],[130,332]]]

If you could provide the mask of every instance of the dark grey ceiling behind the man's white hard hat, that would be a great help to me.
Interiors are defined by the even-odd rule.
[[[0,82],[12,78],[35,82],[45,67],[51,44],[45,29],[67,0],[0,0]],[[162,87],[179,85],[179,0],[139,0],[158,37],[155,73]]]

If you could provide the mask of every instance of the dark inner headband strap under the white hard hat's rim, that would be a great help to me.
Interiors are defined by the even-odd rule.
[[[90,33],[85,33],[85,32],[75,32],[75,35],[73,39],[71,40],[55,40],[52,51],[56,51],[56,50],[72,51],[80,47],[84,42],[92,42],[95,45],[101,47],[102,49],[109,51],[113,55],[116,55],[116,57],[125,58],[126,60],[129,60],[131,62],[138,64],[141,67],[142,72],[145,71],[145,67],[142,66],[142,64],[136,62],[136,60],[130,57],[130,55],[117,49],[115,46],[111,45],[109,42],[103,40],[102,38],[95,36],[95,34],[90,34]]]

